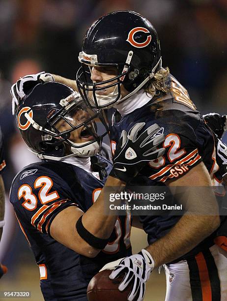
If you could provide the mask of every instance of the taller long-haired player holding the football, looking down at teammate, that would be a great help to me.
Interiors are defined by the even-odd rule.
[[[111,277],[126,271],[119,289],[133,282],[128,300],[142,300],[151,271],[165,264],[166,301],[225,300],[226,218],[220,221],[214,193],[193,189],[222,185],[222,161],[216,160],[213,134],[187,90],[162,67],[156,30],[135,12],[102,16],[87,30],[79,61],[77,87],[74,81],[54,78],[79,90],[90,108],[105,110],[113,154],[122,130],[138,122],[147,127],[158,123],[166,135],[166,153],[141,173],[151,186],[167,185],[173,194],[177,186],[191,186],[188,210],[197,211],[196,216],[141,216],[149,245],[124,259]],[[123,177],[123,172],[116,175]]]

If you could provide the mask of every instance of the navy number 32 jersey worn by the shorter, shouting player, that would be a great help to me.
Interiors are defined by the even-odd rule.
[[[110,162],[102,160],[109,173]],[[87,300],[89,280],[106,263],[131,255],[130,216],[118,217],[109,243],[95,258],[76,253],[50,235],[58,212],[69,206],[87,211],[105,180],[100,181],[97,172],[57,161],[33,163],[15,177],[10,202],[39,266],[45,300]]]

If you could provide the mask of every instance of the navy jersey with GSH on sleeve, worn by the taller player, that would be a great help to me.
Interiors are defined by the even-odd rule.
[[[166,84],[170,88],[168,93],[160,92],[146,105],[123,117],[116,109],[107,110],[113,154],[122,130],[128,132],[137,122],[145,122],[145,128],[157,123],[160,126],[157,134],[164,133],[166,136],[163,142],[166,152],[142,169],[141,175],[146,177],[143,185],[165,185],[186,174],[201,161],[207,167],[213,184],[218,185],[221,178],[218,175],[219,166],[211,130],[190,100],[187,90],[171,75]],[[141,178],[139,182],[141,185]],[[180,216],[171,215],[141,216],[143,229],[148,234],[148,243],[153,243],[168,233],[179,218]],[[213,244],[213,237],[215,233],[187,255],[197,253],[202,246]]]

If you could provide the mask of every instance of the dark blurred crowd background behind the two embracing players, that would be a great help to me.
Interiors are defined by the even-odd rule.
[[[88,26],[105,13],[124,9],[141,13],[155,26],[163,65],[169,66],[189,91],[199,111],[227,113],[226,0],[0,0],[0,126],[7,162],[3,173],[7,195],[16,173],[36,160],[16,131],[11,84],[43,70],[75,79]],[[6,203],[0,261],[9,272],[0,280],[0,290],[32,288],[32,300],[42,300],[38,268]],[[138,242],[138,232],[134,240]],[[159,301],[165,296],[164,275],[155,275],[163,288],[157,290],[156,282],[150,281],[150,290],[157,291],[153,300]]]

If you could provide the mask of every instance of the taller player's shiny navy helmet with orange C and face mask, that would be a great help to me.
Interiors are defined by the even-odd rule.
[[[82,67],[77,73],[77,86],[85,102],[91,108],[110,108],[144,87],[161,68],[157,32],[147,19],[136,12],[109,13],[87,30],[79,61]],[[94,83],[90,79],[94,66],[115,67],[117,75]],[[123,98],[121,84],[130,92]],[[115,87],[112,95],[101,97],[100,90],[110,87]]]

